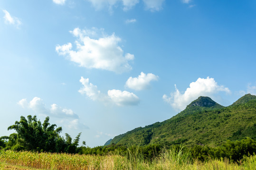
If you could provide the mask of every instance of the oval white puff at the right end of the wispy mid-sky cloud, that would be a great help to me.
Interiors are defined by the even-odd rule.
[[[135,94],[127,91],[122,92],[120,90],[113,89],[109,90],[107,94],[118,106],[138,105],[140,102],[140,99]]]

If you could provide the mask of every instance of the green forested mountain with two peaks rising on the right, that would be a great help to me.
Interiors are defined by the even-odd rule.
[[[171,119],[115,136],[111,144],[217,146],[228,139],[256,139],[256,96],[247,94],[240,99],[224,107],[200,96]]]

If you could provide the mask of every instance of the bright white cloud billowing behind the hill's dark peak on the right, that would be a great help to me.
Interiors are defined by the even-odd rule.
[[[218,85],[214,78],[207,77],[198,78],[196,82],[190,83],[190,87],[187,88],[185,93],[180,93],[175,85],[176,92],[171,93],[171,96],[163,95],[163,100],[171,104],[174,109],[183,110],[186,106],[197,99],[199,96],[212,97],[213,94],[218,92],[230,93],[230,90],[223,85]]]

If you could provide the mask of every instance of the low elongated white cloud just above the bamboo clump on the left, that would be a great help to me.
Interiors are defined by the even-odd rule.
[[[31,109],[38,114],[53,116],[56,118],[73,118],[78,119],[78,115],[71,109],[59,107],[57,104],[51,104],[51,108],[47,108],[43,100],[39,97],[34,97],[30,102],[27,99],[21,99],[18,104],[27,109]]]

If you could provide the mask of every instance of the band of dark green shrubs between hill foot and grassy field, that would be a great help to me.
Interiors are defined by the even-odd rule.
[[[163,150],[174,150],[176,152],[183,151],[189,153],[190,159],[199,161],[209,161],[214,159],[228,159],[229,161],[240,161],[244,156],[250,156],[256,153],[256,141],[247,137],[246,139],[239,141],[226,141],[218,147],[209,147],[202,145],[194,145],[193,147],[180,144],[164,146],[160,144],[150,144],[146,146],[132,145],[125,147],[123,145],[111,144],[108,146],[97,146],[94,148],[79,147],[79,154],[91,154],[91,155],[106,155],[106,154],[118,154],[118,155],[137,155],[143,160],[152,161],[156,157],[161,156]]]

